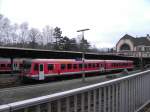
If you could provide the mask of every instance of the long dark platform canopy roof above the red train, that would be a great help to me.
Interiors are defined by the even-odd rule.
[[[0,57],[3,58],[50,58],[50,59],[81,59],[82,52],[57,51],[29,48],[0,47]],[[134,57],[125,57],[115,54],[85,53],[86,59],[105,59],[105,60],[133,60]]]

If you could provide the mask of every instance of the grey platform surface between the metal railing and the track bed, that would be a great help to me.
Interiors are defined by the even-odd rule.
[[[0,105],[53,94],[57,92],[67,91],[99,82],[108,81],[111,79],[112,78],[106,78],[106,76],[95,76],[87,77],[84,83],[81,81],[81,79],[74,79],[67,81],[62,80],[59,82],[0,89]]]

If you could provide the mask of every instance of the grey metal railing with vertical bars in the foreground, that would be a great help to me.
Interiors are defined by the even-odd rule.
[[[150,70],[0,106],[0,112],[134,112],[150,99]]]

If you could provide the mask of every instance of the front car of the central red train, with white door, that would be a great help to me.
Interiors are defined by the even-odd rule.
[[[101,71],[103,60],[85,60],[84,69],[82,61],[62,59],[34,59],[23,62],[24,70],[22,75],[28,78],[44,80],[46,77],[81,74]]]

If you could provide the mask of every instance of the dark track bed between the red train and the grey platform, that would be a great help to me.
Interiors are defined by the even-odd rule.
[[[135,71],[131,71],[130,73],[134,73],[137,72],[138,70]],[[116,73],[115,73],[116,74]],[[118,74],[118,73],[117,73]],[[113,74],[109,74],[108,73],[103,73],[101,75],[107,75],[108,78],[113,78],[115,75]],[[92,74],[90,76],[97,76],[95,74]],[[88,77],[90,77],[88,75]],[[70,78],[68,77],[54,77],[51,78],[49,80],[45,80],[45,81],[27,81],[27,82],[22,82],[19,78],[18,75],[11,75],[11,74],[2,74],[0,77],[0,89],[2,88],[10,88],[10,87],[18,87],[18,86],[30,86],[30,85],[36,85],[36,84],[43,84],[43,83],[49,83],[49,82],[58,82],[58,81],[62,81],[62,80],[72,80],[72,79],[77,79],[77,78],[81,78],[82,75],[78,74],[78,76],[74,76],[72,75]],[[116,77],[116,76],[115,76]]]

